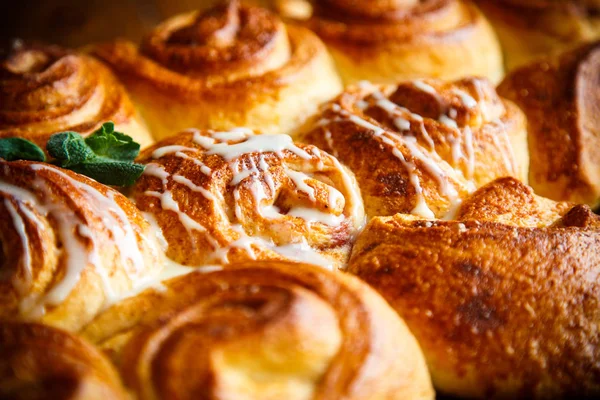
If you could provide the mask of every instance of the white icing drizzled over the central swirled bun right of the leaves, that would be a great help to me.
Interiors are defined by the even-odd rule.
[[[275,199],[276,197],[276,185],[274,177],[270,172],[271,166],[267,162],[266,155],[274,154],[279,158],[283,158],[284,151],[289,151],[303,160],[317,161],[318,171],[330,169],[331,167],[325,166],[323,160],[323,157],[329,158],[330,156],[322,153],[316,148],[311,147],[304,150],[296,146],[290,136],[254,135],[251,130],[245,128],[234,129],[229,132],[210,132],[210,136],[205,136],[199,131],[194,131],[193,142],[203,147],[205,149],[205,154],[218,155],[228,162],[229,169],[232,172],[232,179],[229,184],[234,187],[234,213],[239,221],[244,220],[244,212],[241,207],[243,190],[249,190],[255,201],[258,213],[265,218],[279,219],[284,217],[294,217],[304,220],[307,225],[320,223],[329,227],[340,226],[347,218],[349,218],[344,214],[333,215],[331,213],[314,210],[310,207],[293,207],[286,215],[283,215],[278,207],[273,204],[268,204],[270,198]],[[175,154],[179,157],[179,154],[183,151],[197,151],[196,149],[185,148],[183,146],[167,147],[168,148],[166,149],[159,148],[155,150],[154,155],[164,156],[167,154]],[[255,154],[256,157],[240,159],[240,157],[247,154]],[[342,193],[334,188],[330,188],[328,193],[328,203],[330,208],[335,209],[339,204],[343,206],[352,204],[350,215],[364,215],[362,212],[362,200],[356,182],[335,158],[329,159],[333,160],[335,168],[339,170],[339,176],[341,176],[345,189],[348,191],[348,201],[350,201],[350,203],[346,203],[346,199]],[[315,188],[307,183],[307,180],[312,179],[311,176],[285,166],[284,171],[285,175],[295,185],[296,190],[305,193],[310,201],[317,201]],[[198,231],[210,236],[206,227],[202,226],[180,210],[179,204],[173,199],[171,192],[167,190],[167,184],[169,180],[172,180],[184,185],[194,192],[199,192],[205,198],[216,202],[217,198],[213,193],[206,188],[195,184],[186,177],[168,173],[164,167],[155,163],[148,164],[144,174],[158,178],[163,186],[162,192],[147,191],[145,192],[146,195],[159,198],[161,207],[164,210],[175,212],[178,215],[180,222],[190,234],[193,231]],[[265,204],[265,200],[267,201],[267,204]],[[215,209],[220,210],[221,207],[215,207]],[[359,225],[356,226],[356,228],[362,227],[364,222],[364,220],[356,221],[355,225]],[[289,254],[299,254],[298,257],[296,257],[298,260],[305,262],[313,260],[313,263],[318,261],[318,265],[333,268],[332,260],[321,256],[320,253],[310,247],[306,241],[277,246],[270,239],[248,236],[242,225],[234,224],[231,226],[231,229],[239,234],[239,238],[232,243],[222,246],[216,240],[209,239],[213,248],[210,255],[211,259],[227,263],[230,251],[236,248],[246,252],[250,258],[255,258],[257,257],[257,249],[263,248],[274,251],[287,258],[290,258],[288,257]],[[302,254],[300,255],[300,253]]]

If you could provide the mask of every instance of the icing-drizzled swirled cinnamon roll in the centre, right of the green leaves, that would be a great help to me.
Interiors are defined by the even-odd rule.
[[[333,268],[364,225],[353,175],[287,135],[188,131],[139,161],[146,169],[130,197],[183,265],[291,258]]]

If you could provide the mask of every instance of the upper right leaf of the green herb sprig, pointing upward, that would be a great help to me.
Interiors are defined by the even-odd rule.
[[[115,132],[115,125],[106,122],[100,129],[85,139],[86,144],[98,156],[113,160],[133,161],[140,153],[140,145],[121,132]]]

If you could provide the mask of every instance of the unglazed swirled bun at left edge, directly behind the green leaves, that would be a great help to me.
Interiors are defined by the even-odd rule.
[[[20,42],[0,57],[0,137],[45,148],[53,133],[85,135],[108,121],[142,146],[152,141],[125,89],[99,61]]]

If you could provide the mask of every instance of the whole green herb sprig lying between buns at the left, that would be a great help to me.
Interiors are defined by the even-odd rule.
[[[136,164],[140,145],[115,131],[112,122],[87,138],[76,132],[52,135],[46,144],[52,164],[89,176],[112,186],[130,186],[144,172],[144,165]],[[0,158],[7,161],[46,161],[44,151],[35,143],[22,138],[0,139]]]

